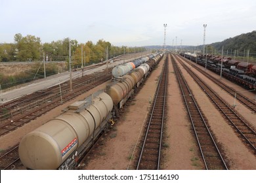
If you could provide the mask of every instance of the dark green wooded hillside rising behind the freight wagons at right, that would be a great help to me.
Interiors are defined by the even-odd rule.
[[[236,37],[230,37],[222,42],[214,42],[209,44],[217,50],[221,50],[224,46],[224,50],[236,50],[244,54],[244,50],[247,53],[249,50],[250,56],[256,56],[256,31],[250,33],[244,33]]]

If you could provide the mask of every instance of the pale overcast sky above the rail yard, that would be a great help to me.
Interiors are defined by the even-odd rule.
[[[255,0],[0,0],[0,42],[35,35],[115,46],[205,44],[256,30]]]

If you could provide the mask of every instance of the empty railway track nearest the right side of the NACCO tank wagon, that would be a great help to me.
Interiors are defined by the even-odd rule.
[[[154,105],[148,119],[148,127],[137,163],[139,169],[160,169],[161,140],[165,117],[165,96],[167,93],[168,59],[158,82]]]

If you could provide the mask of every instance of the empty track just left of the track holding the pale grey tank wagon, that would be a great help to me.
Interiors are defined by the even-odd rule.
[[[69,92],[67,90],[67,92],[62,93],[62,98],[60,98],[60,94],[57,93],[57,97],[51,97],[50,99],[47,100],[47,102],[43,103],[42,105],[30,108],[30,110],[26,110],[26,112],[24,112],[23,114],[16,115],[14,118],[11,118],[11,122],[1,125],[0,136],[13,131],[14,129],[30,122],[31,120],[34,120],[35,118],[37,118],[38,116],[41,116],[42,114],[45,114],[49,110],[55,107],[58,107],[58,105],[60,105],[61,103],[61,100],[62,100],[62,103],[65,103],[66,101],[70,101],[71,99],[74,99],[78,95],[81,95],[81,93],[87,92],[95,88],[95,86],[98,86],[103,82],[110,80],[111,77],[112,75],[108,73],[108,74],[95,76],[94,78],[90,78],[89,80],[86,80],[84,82],[76,81],[77,84],[75,85],[74,90],[72,92]]]

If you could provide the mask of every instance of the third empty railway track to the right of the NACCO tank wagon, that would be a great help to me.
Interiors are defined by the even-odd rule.
[[[232,109],[217,93],[215,93],[201,78],[194,74],[180,58],[176,59],[186,69],[186,71],[194,78],[198,85],[206,93],[207,97],[215,104],[215,107],[219,109],[224,118],[228,120],[228,124],[232,125],[232,128],[240,138],[242,142],[247,144],[247,147],[256,154],[256,132],[240,115]]]

